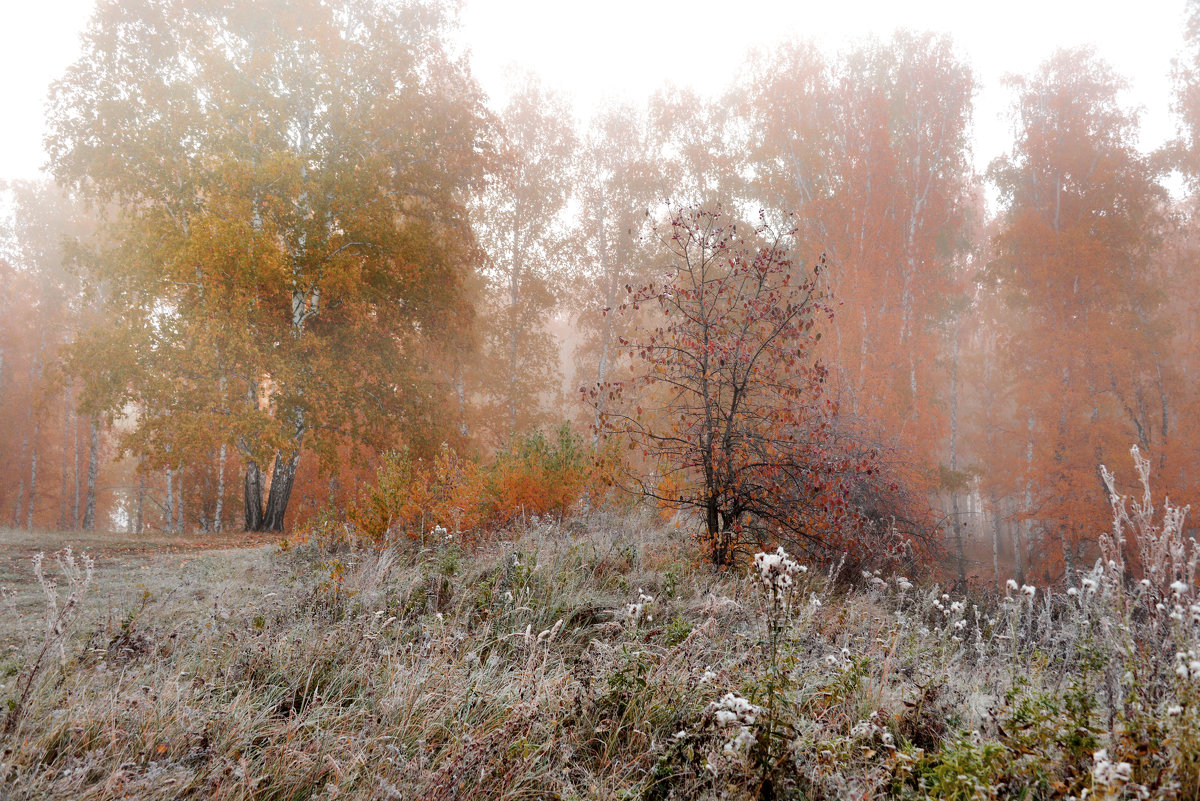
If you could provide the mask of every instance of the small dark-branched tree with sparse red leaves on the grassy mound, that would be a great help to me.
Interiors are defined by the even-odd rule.
[[[790,234],[760,227],[740,237],[719,217],[684,209],[672,219],[670,283],[629,303],[653,299],[662,315],[630,338],[641,395],[606,427],[672,476],[670,492],[649,494],[704,512],[704,538],[724,564],[739,532],[766,522],[836,540],[853,517],[845,477],[860,465],[828,433],[835,404],[822,398],[826,371],[812,357],[828,306],[812,281],[794,277],[781,246]],[[619,387],[600,390],[620,401]]]

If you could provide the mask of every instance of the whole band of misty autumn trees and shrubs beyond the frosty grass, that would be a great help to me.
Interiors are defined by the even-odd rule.
[[[449,5],[259,5],[100,2],[50,89],[0,230],[0,525],[640,502],[716,565],[1002,586],[1096,561],[1134,446],[1200,499],[1200,2],[1174,141],[1062,50],[983,171],[940,34],[578,119],[530,76],[490,106]]]

